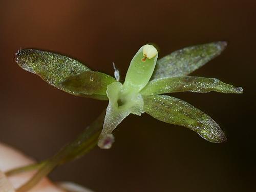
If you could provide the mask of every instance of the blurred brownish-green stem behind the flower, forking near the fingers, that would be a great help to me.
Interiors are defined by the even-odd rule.
[[[27,183],[16,191],[25,192],[30,190],[42,178],[46,177],[56,166],[76,159],[94,148],[97,145],[98,137],[103,126],[104,116],[105,111],[103,111],[98,118],[78,136],[77,139],[63,147],[52,158],[7,172],[6,174],[11,176],[26,171],[38,170]]]

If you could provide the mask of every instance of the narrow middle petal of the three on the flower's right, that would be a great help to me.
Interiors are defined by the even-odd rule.
[[[222,93],[242,93],[242,87],[234,87],[223,83],[215,78],[203,77],[170,77],[161,78],[148,82],[141,90],[142,95],[163,94],[169,92],[210,92],[217,91]]]

